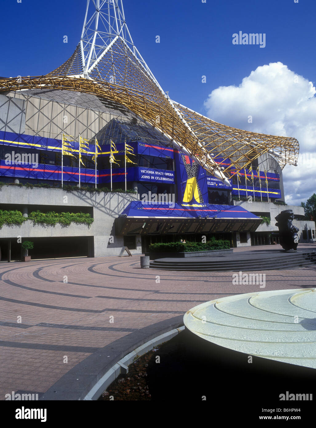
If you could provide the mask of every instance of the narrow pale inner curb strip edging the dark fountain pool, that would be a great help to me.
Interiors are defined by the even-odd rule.
[[[146,354],[151,349],[155,348],[157,345],[161,345],[164,342],[172,339],[174,336],[177,336],[181,331],[185,329],[185,326],[175,328],[174,330],[169,331],[168,333],[161,334],[160,336],[155,337],[152,340],[144,343],[144,345],[139,346],[134,349],[129,354],[125,355],[124,358],[119,360],[114,366],[109,369],[106,374],[101,377],[101,379],[95,384],[95,386],[88,392],[84,400],[97,400],[100,397],[102,392],[120,375],[127,373],[128,366],[134,361],[138,360],[139,357]]]

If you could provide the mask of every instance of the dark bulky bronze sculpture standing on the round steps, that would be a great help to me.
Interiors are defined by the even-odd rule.
[[[275,226],[278,226],[279,233],[272,233],[272,235],[280,238],[281,247],[284,248],[285,251],[297,250],[299,242],[297,232],[299,229],[292,225],[292,220],[294,220],[293,211],[281,211],[281,213],[275,217],[275,220],[278,222],[275,223]]]

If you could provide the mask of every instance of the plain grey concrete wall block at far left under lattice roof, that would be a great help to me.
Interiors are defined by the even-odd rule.
[[[0,131],[23,134],[25,131],[25,101],[0,95]]]

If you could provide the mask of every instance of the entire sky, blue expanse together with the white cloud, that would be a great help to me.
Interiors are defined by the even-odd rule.
[[[123,0],[123,3],[133,40],[171,99],[226,125],[300,138],[301,153],[314,153],[316,160],[316,149],[313,150],[316,128],[310,131],[315,126],[314,116],[310,114],[306,119],[308,112],[316,112],[309,83],[314,86],[316,81],[315,0],[298,0],[298,3],[294,0],[206,0],[206,3]],[[0,76],[32,76],[46,74],[74,52],[86,0],[21,0],[21,3],[10,0],[1,9],[5,18],[1,19],[0,27]],[[239,31],[265,33],[266,47],[233,45],[233,33]],[[63,43],[65,35],[68,43]],[[160,43],[155,42],[157,35]],[[270,63],[280,63],[281,71],[271,66],[261,72],[260,67]],[[275,72],[278,79],[274,81]],[[294,75],[304,79],[293,89]],[[206,76],[206,83],[202,83],[202,76]],[[241,86],[245,78],[247,87]],[[251,92],[249,83],[253,78],[255,89]],[[232,96],[236,88],[239,88],[238,102]],[[296,95],[289,97],[286,92]],[[265,98],[262,105],[260,97]],[[240,102],[245,107],[243,116]],[[278,108],[274,111],[276,104]],[[249,124],[246,118],[252,109],[260,120]],[[299,123],[293,128],[295,120]],[[290,181],[293,175],[289,169],[288,178],[285,174],[292,202],[306,199],[315,191],[315,175],[309,171],[304,178],[304,165],[298,170],[301,173],[295,176],[296,184]],[[310,178],[313,181],[307,184]],[[304,194],[299,191],[302,187]]]

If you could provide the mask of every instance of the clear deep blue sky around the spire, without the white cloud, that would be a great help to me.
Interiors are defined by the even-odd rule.
[[[45,74],[73,53],[86,0],[1,5],[0,75]],[[281,61],[315,81],[315,0],[125,0],[130,33],[172,99],[201,113],[207,95]],[[14,17],[14,18],[12,18]],[[266,47],[235,46],[233,33],[266,33]],[[62,42],[68,36],[68,44]],[[160,43],[155,37],[160,36]],[[201,83],[201,76],[207,77]]]

